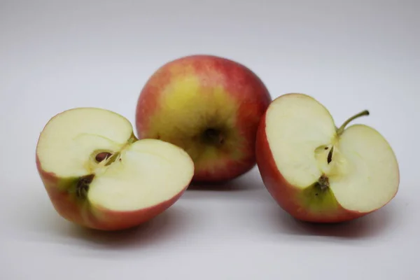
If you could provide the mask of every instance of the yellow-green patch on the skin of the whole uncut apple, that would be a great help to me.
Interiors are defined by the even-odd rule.
[[[195,73],[183,69],[183,75],[175,75],[160,94],[159,110],[151,116],[145,137],[180,146],[199,169],[206,162],[213,161],[214,165],[214,160],[223,158],[241,160],[242,139],[236,128],[238,108],[239,102],[222,85],[206,86]],[[221,132],[221,146],[200,140],[209,128]]]

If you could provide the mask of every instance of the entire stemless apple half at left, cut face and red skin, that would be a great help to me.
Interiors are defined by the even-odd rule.
[[[123,116],[70,109],[45,125],[36,165],[57,212],[99,230],[132,228],[170,207],[193,178],[183,149],[138,140]]]

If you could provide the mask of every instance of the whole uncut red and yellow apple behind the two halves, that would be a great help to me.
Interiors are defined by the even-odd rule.
[[[228,181],[255,166],[255,135],[270,102],[267,88],[246,66],[212,55],[181,57],[161,66],[141,90],[137,137],[181,146],[195,163],[195,182]],[[197,140],[181,136],[200,134],[211,122],[233,135],[217,150],[194,148]]]

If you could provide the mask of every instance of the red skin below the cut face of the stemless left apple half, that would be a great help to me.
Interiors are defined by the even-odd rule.
[[[186,188],[188,188],[186,186],[170,200],[153,207],[138,211],[110,211],[109,209],[94,206],[86,199],[78,199],[73,193],[69,193],[68,190],[71,189],[69,179],[59,179],[55,174],[43,171],[37,155],[36,167],[45,186],[45,190],[50,197],[52,206],[57,213],[67,221],[94,230],[125,230],[141,225],[141,223],[155,218],[155,216],[162,214],[162,212],[171,207],[179,200]]]

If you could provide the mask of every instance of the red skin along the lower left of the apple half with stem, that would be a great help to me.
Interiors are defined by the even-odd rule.
[[[333,205],[305,207],[302,189],[290,185],[276,167],[272,151],[269,148],[267,141],[265,120],[266,113],[261,118],[255,143],[257,165],[265,188],[267,188],[270,195],[272,195],[274,200],[283,210],[300,221],[313,223],[339,223],[351,221],[370,213],[346,210],[341,207],[335,199]]]

